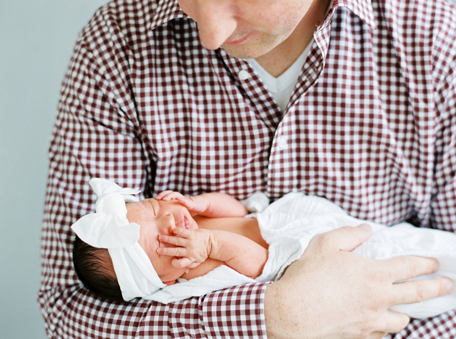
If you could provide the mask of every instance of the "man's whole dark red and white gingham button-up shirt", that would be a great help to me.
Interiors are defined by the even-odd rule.
[[[142,190],[324,196],[352,216],[456,230],[456,10],[334,0],[285,113],[244,60],[207,51],[173,0],[115,0],[82,31],[50,148],[39,301],[64,338],[262,337],[267,284],[170,305],[93,298],[69,226],[92,177]],[[454,311],[395,337],[456,336]]]

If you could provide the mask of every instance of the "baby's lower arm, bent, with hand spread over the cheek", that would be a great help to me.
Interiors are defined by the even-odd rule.
[[[221,230],[175,228],[175,236],[160,235],[159,240],[178,247],[159,247],[160,255],[177,257],[173,266],[196,267],[207,258],[221,261],[251,278],[261,275],[268,250],[240,234]],[[209,269],[210,271],[210,269]],[[207,273],[207,272],[205,272]]]

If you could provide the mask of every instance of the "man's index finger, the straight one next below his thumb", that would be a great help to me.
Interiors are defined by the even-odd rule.
[[[434,273],[439,262],[432,258],[402,256],[384,260],[391,274],[392,282],[407,280],[418,275]]]

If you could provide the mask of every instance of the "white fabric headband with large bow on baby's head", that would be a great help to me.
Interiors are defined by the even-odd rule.
[[[165,287],[138,243],[140,226],[127,219],[125,202],[138,202],[131,194],[140,191],[106,179],[92,178],[89,184],[98,196],[95,213],[82,217],[71,228],[89,245],[108,249],[123,299],[147,298]]]

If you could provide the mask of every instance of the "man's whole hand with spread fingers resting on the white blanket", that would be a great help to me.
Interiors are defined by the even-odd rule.
[[[372,260],[351,253],[371,235],[368,225],[343,227],[316,236],[284,276],[265,294],[268,338],[381,338],[410,318],[393,305],[448,294],[447,278],[394,284],[437,271],[421,257]]]

